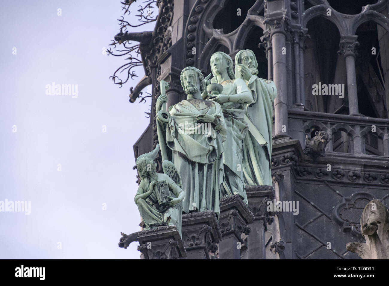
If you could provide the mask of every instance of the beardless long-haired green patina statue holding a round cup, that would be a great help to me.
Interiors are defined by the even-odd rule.
[[[211,84],[221,84],[223,91],[216,96],[205,92],[203,98],[221,104],[227,128],[227,137],[223,142],[225,179],[221,194],[238,194],[243,198],[244,203],[248,204],[242,171],[242,145],[249,128],[244,119],[245,106],[252,102],[252,95],[243,79],[235,79],[233,62],[228,54],[223,52],[212,54],[210,65],[214,76]]]

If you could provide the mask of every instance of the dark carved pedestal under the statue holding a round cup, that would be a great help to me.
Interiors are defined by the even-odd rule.
[[[220,200],[219,226],[222,239],[219,244],[219,259],[240,259],[240,250],[244,243],[241,235],[249,234],[247,226],[254,220],[254,215],[239,195],[223,197]]]

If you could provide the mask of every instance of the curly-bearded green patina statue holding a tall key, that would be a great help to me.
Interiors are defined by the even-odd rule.
[[[184,212],[209,210],[219,217],[227,132],[223,111],[217,102],[202,99],[205,79],[200,70],[186,67],[180,78],[187,99],[166,111],[168,84],[161,81],[161,95],[156,102],[162,160],[171,160],[181,175]]]

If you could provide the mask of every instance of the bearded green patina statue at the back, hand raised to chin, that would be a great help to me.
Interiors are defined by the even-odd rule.
[[[243,172],[247,185],[272,185],[273,101],[277,88],[273,81],[259,78],[258,62],[251,50],[241,50],[235,56],[235,76],[244,79],[253,102],[245,106],[249,132],[243,140]]]

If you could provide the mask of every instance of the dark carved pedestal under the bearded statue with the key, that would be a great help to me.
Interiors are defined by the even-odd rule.
[[[215,212],[191,212],[182,215],[182,240],[186,259],[211,259],[210,253],[216,253],[219,239],[221,232]]]

